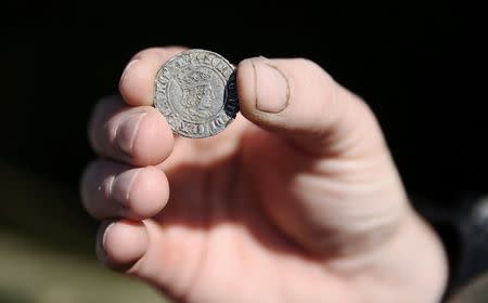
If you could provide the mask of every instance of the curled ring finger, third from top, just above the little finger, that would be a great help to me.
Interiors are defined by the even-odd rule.
[[[130,168],[98,160],[81,179],[84,206],[97,219],[147,219],[165,207],[168,197],[168,180],[154,167]]]

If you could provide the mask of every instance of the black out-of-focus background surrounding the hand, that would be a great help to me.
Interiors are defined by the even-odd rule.
[[[97,224],[78,197],[80,173],[94,158],[86,122],[93,104],[116,92],[129,58],[154,45],[208,49],[233,63],[311,58],[371,105],[412,196],[448,208],[466,193],[488,192],[488,18],[480,4],[317,2],[2,4],[3,237],[22,239],[20,251],[34,242],[91,262]],[[1,235],[0,253],[12,253]],[[3,288],[9,293],[9,279],[0,278],[0,302]],[[25,300],[12,302],[38,302]]]

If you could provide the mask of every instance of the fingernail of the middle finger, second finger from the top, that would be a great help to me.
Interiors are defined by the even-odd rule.
[[[147,115],[145,111],[129,114],[121,118],[121,121],[115,130],[115,143],[126,156],[132,157],[133,143],[145,115]]]

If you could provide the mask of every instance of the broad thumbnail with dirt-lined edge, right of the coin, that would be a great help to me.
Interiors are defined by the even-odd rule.
[[[277,114],[288,104],[288,82],[283,73],[265,57],[253,58],[256,85],[256,108]]]

